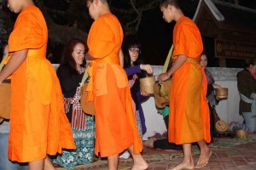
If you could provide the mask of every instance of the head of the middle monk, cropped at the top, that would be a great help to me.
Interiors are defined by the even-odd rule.
[[[108,0],[86,0],[86,5],[93,20],[102,16],[102,14],[110,13]]]

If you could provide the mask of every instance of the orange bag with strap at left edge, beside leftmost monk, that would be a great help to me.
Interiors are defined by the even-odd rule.
[[[3,60],[7,57],[3,56]],[[0,71],[3,69],[3,60],[0,64]],[[9,119],[10,116],[10,107],[11,107],[11,86],[10,79],[3,80],[0,85],[0,123],[3,122],[3,119]]]

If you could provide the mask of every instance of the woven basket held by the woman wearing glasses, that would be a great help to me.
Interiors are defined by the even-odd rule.
[[[140,78],[140,90],[147,94],[154,94],[155,77]]]

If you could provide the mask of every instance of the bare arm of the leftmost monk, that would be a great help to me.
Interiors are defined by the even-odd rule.
[[[21,65],[21,63],[26,59],[27,52],[28,49],[15,51],[15,53],[10,57],[7,65],[4,66],[3,71],[0,72],[0,84]]]

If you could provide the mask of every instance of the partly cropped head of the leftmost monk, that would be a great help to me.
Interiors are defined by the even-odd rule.
[[[7,7],[14,13],[20,13],[28,5],[33,5],[32,0],[7,0]]]

